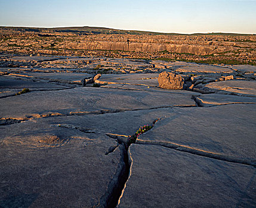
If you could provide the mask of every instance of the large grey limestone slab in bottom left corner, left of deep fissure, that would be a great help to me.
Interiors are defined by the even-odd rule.
[[[104,134],[51,121],[1,128],[0,206],[109,206],[124,169],[123,146]],[[116,149],[106,155],[111,146]]]

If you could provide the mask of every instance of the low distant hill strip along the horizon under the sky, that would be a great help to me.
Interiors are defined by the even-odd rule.
[[[138,30],[117,30],[106,27],[6,27],[0,26],[0,32],[2,31],[15,31],[15,32],[35,32],[35,33],[79,33],[79,34],[149,34],[149,35],[190,35],[190,36],[202,36],[202,35],[225,35],[225,36],[241,36],[251,34],[238,34],[238,33],[194,33],[194,34],[180,34],[180,33],[158,33],[153,31],[138,31]]]

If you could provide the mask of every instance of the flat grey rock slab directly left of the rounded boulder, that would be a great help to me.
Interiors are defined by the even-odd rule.
[[[108,84],[134,84],[149,87],[158,86],[158,74],[102,75],[98,80]]]

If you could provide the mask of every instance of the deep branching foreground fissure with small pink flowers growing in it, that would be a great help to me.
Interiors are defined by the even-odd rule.
[[[120,171],[119,175],[116,176],[115,186],[112,187],[113,190],[108,192],[109,193],[108,197],[104,197],[104,200],[103,200],[104,202],[101,201],[101,203],[100,203],[101,205],[98,207],[102,206],[102,207],[112,208],[112,207],[118,206],[119,203],[121,202],[127,182],[129,180],[129,177],[131,176],[132,157],[131,157],[131,153],[129,152],[129,146],[132,143],[158,145],[158,146],[162,146],[162,147],[168,147],[171,149],[175,149],[180,152],[191,153],[193,155],[209,157],[212,159],[223,160],[226,162],[240,163],[240,164],[250,165],[250,166],[254,166],[254,167],[256,166],[255,160],[251,160],[251,159],[221,155],[221,154],[212,153],[212,152],[206,152],[204,150],[193,149],[192,147],[182,146],[182,145],[175,144],[175,143],[137,140],[141,134],[144,134],[147,131],[149,131],[151,128],[153,128],[155,123],[161,119],[162,118],[155,119],[152,122],[152,125],[141,126],[133,135],[129,135],[128,137],[126,135],[106,134],[110,138],[115,138],[118,141],[119,145],[124,147],[123,152],[122,152],[122,158],[121,158],[121,160],[124,162],[124,165],[122,167],[122,171]],[[105,155],[108,155],[109,153],[115,151],[115,149],[119,145],[110,147],[108,152]],[[115,179],[110,181],[110,184],[112,184],[113,181],[115,181]],[[104,206],[103,206],[103,204],[104,204]]]

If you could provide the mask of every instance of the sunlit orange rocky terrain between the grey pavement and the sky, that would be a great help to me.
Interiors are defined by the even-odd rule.
[[[256,65],[255,34],[168,34],[76,27],[0,27],[0,51]]]

